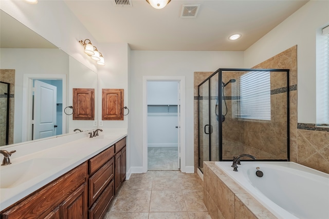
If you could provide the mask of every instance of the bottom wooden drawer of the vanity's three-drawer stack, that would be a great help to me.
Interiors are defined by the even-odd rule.
[[[104,215],[104,212],[111,202],[114,195],[114,183],[113,181],[106,187],[104,192],[98,198],[93,207],[89,210],[89,219],[101,218]]]

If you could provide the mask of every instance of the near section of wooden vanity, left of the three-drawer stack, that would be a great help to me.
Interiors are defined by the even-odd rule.
[[[86,178],[85,162],[5,209],[1,218],[87,218]]]

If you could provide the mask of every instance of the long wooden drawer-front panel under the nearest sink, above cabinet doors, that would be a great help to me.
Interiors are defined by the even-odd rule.
[[[86,177],[87,163],[83,163],[29,195],[15,206],[3,211],[1,218],[38,218],[41,214],[62,203],[72,192],[86,182]]]

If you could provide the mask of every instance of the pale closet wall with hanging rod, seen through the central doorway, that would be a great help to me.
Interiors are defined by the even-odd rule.
[[[178,82],[148,82],[148,147],[177,147]]]

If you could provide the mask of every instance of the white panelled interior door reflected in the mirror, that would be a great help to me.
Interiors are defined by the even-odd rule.
[[[33,140],[56,135],[57,87],[34,81]]]

